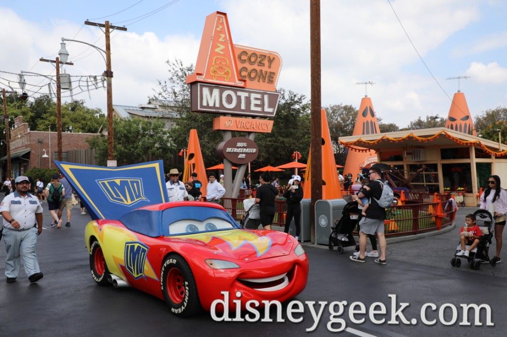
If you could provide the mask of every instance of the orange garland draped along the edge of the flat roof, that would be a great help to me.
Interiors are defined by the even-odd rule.
[[[447,131],[440,131],[438,132],[437,134],[434,134],[433,136],[430,136],[430,137],[419,137],[419,136],[416,136],[414,135],[413,133],[410,133],[406,136],[403,136],[403,137],[399,137],[399,138],[393,138],[393,137],[389,137],[389,136],[382,136],[380,137],[379,139],[377,140],[374,140],[374,141],[367,141],[367,140],[364,140],[363,138],[359,138],[353,142],[344,142],[344,141],[340,141],[340,143],[344,146],[346,146],[347,148],[349,148],[350,150],[352,151],[356,151],[356,152],[368,152],[370,151],[370,149],[364,149],[364,148],[356,148],[356,147],[353,147],[353,145],[355,146],[358,146],[357,144],[359,142],[363,142],[363,143],[366,143],[366,144],[370,144],[370,145],[374,145],[374,144],[378,144],[380,143],[381,141],[383,140],[387,140],[388,142],[394,142],[394,143],[399,143],[399,142],[403,142],[409,138],[413,138],[415,140],[417,140],[418,142],[424,142],[424,143],[427,143],[429,141],[432,141],[433,139],[436,139],[437,137],[439,137],[440,135],[444,135],[446,136],[447,138],[449,138],[450,140],[452,140],[454,143],[457,143],[457,144],[460,144],[460,145],[464,145],[464,146],[476,146],[476,147],[480,147],[481,149],[483,149],[484,151],[486,151],[487,153],[489,154],[492,154],[494,156],[502,156],[502,155],[507,155],[507,150],[503,150],[503,151],[492,151],[490,149],[488,149],[486,147],[486,145],[484,145],[481,141],[479,140],[474,140],[474,141],[462,141],[460,140],[459,138],[457,137],[454,137],[452,136],[451,134],[449,134]]]

